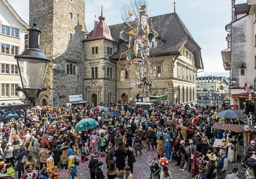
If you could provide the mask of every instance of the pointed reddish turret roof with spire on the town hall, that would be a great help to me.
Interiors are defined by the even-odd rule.
[[[114,39],[111,36],[110,30],[108,28],[108,25],[104,22],[105,16],[103,16],[102,7],[103,6],[101,6],[101,15],[99,17],[100,22],[95,25],[95,27],[93,29],[92,36],[89,37],[86,40],[106,38],[106,39],[114,41]]]

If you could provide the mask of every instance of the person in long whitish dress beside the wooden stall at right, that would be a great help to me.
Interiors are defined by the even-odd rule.
[[[230,135],[228,135],[228,161],[231,163],[235,163],[237,160],[236,155],[236,134],[234,132],[230,132]]]

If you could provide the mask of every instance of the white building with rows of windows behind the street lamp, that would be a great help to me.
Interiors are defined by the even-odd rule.
[[[0,105],[23,104],[18,64],[14,55],[24,50],[28,25],[13,10],[7,0],[0,0]]]

